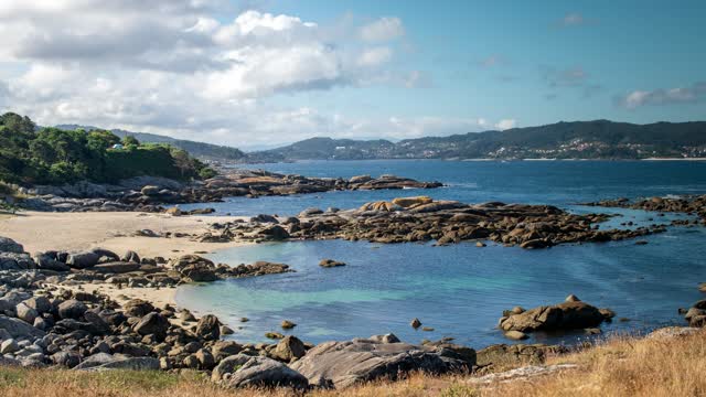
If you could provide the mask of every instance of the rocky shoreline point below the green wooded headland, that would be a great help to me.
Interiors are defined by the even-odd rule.
[[[167,206],[185,203],[214,203],[226,197],[311,194],[329,191],[435,189],[439,182],[419,182],[395,175],[353,176],[351,179],[307,178],[259,170],[231,169],[205,181],[179,181],[138,176],[119,184],[82,181],[63,186],[20,187],[22,198],[12,204],[31,211],[165,212]],[[190,214],[211,213],[195,210]]]

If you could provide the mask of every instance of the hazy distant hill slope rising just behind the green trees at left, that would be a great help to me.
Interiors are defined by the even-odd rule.
[[[55,127],[60,129],[65,129],[65,130],[75,130],[77,128],[82,128],[87,131],[93,129],[101,129],[101,128],[92,127],[92,126],[78,126],[78,125],[60,125]],[[246,154],[239,149],[225,147],[225,146],[196,142],[196,141],[184,140],[184,139],[174,139],[174,138],[160,136],[156,133],[132,132],[132,131],[126,131],[121,129],[114,129],[114,130],[110,130],[110,132],[117,135],[120,138],[124,138],[126,136],[132,136],[140,142],[169,143],[176,148],[183,149],[189,153],[191,153],[191,155],[200,159],[243,161],[246,157]]]

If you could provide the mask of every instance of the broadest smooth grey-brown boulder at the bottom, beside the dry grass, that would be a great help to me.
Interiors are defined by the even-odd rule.
[[[445,347],[381,343],[379,339],[325,342],[290,365],[312,384],[332,383],[336,388],[378,378],[395,379],[409,372],[445,374],[467,371],[474,355],[463,360]]]

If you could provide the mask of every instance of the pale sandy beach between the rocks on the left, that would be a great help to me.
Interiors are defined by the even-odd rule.
[[[233,216],[170,216],[165,214],[43,213],[22,212],[0,217],[0,236],[22,244],[28,253],[45,250],[79,251],[101,247],[121,255],[128,249],[143,257],[171,258],[185,254],[211,253],[245,243],[197,243],[185,238],[136,237],[135,232],[202,233],[210,223],[234,221]]]

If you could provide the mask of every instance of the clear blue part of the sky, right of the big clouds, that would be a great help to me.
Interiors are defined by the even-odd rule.
[[[634,90],[689,87],[706,81],[706,2],[683,1],[291,1],[274,12],[334,24],[346,13],[404,22],[409,53],[402,65],[430,76],[428,87],[307,94],[309,100],[360,114],[434,112],[448,117],[513,118],[532,126],[559,120],[632,122],[700,120],[705,101],[618,106]],[[571,17],[575,17],[571,19]],[[566,20],[565,20],[566,19]],[[564,84],[560,74],[585,77]]]

